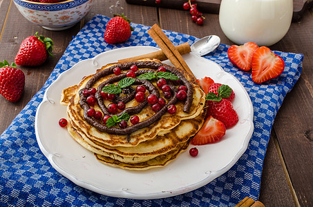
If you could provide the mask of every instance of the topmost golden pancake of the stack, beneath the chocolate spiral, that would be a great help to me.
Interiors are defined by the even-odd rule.
[[[130,63],[130,65],[131,64],[133,63]],[[162,65],[163,64],[160,63],[160,66]],[[98,70],[97,72],[106,70],[107,68],[112,68],[114,66],[116,66],[116,64],[115,65],[108,64],[107,66],[102,67],[102,69]],[[117,64],[117,66],[120,66],[120,64]],[[183,72],[183,71],[181,72],[182,74],[187,75],[186,72]],[[82,90],[86,86],[88,81],[90,81],[93,77],[94,75],[85,77],[79,83],[78,86],[72,86],[68,89],[65,89],[63,92],[61,103],[68,104],[68,117],[70,117],[70,119],[72,119],[75,122],[75,124],[80,129],[82,129],[88,137],[90,137],[91,139],[95,139],[96,141],[99,141],[109,146],[136,146],[137,144],[140,144],[140,142],[142,141],[153,139],[156,135],[164,134],[164,132],[167,132],[171,130],[172,128],[175,128],[176,126],[178,126],[181,120],[193,119],[194,117],[197,117],[198,115],[200,115],[201,112],[203,112],[203,107],[205,106],[205,92],[201,90],[200,86],[198,86],[198,83],[196,82],[191,83],[193,86],[193,100],[191,103],[191,111],[189,113],[183,112],[184,103],[179,101],[176,103],[177,111],[174,115],[170,115],[168,112],[166,112],[158,121],[155,121],[154,123],[150,124],[148,127],[136,130],[135,132],[132,132],[131,134],[115,135],[113,133],[102,132],[102,131],[97,130],[97,128],[95,128],[94,126],[91,126],[91,124],[89,124],[85,120],[84,109],[82,109],[82,107],[79,106],[80,97],[79,97],[78,92],[79,90]],[[99,79],[99,81],[93,84],[93,87],[97,88],[101,83],[110,79],[111,77],[114,77],[114,75],[108,75],[106,77],[102,77],[101,79]],[[76,88],[76,90],[73,90],[73,88]],[[158,87],[155,87],[155,88],[158,88]],[[68,91],[71,91],[71,92],[68,92]],[[160,97],[162,97],[162,93],[160,93]],[[110,103],[110,101],[108,100],[104,101],[104,105],[107,106],[108,103]],[[126,108],[131,108],[133,106],[137,106],[137,101],[132,100],[132,101],[129,101],[129,103],[126,103]],[[99,106],[97,105],[94,106],[94,108],[95,110],[101,110]],[[155,112],[151,110],[151,106],[147,106],[140,113],[137,113],[136,115],[140,117],[140,121],[144,121],[146,119],[153,117],[153,115],[155,115]]]

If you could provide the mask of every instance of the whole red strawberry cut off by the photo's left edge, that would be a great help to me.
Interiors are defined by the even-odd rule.
[[[17,69],[17,65],[8,61],[0,62],[0,94],[8,101],[16,102],[21,99],[25,86],[25,75]]]

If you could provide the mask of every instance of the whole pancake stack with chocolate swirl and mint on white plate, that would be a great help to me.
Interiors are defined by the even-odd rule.
[[[129,78],[126,73],[133,66],[135,76]],[[115,72],[115,68],[121,72]],[[160,78],[167,80],[170,95],[164,96],[164,91],[157,85]],[[139,85],[146,88],[142,101],[134,98]],[[177,95],[180,86],[187,94],[182,100]],[[86,92],[91,88],[96,89],[92,92],[96,102],[92,104],[87,100],[91,93]],[[108,90],[117,92],[108,98]],[[164,101],[158,110],[147,101],[150,94]],[[112,114],[108,110],[109,104],[120,101],[125,107]],[[67,106],[68,132],[73,139],[94,152],[102,163],[131,170],[165,166],[176,159],[188,148],[190,138],[200,130],[205,118],[205,92],[196,80],[187,72],[157,59],[103,66],[77,85],[64,89],[61,104]],[[169,106],[175,106],[174,112],[168,111]],[[98,115],[101,112],[101,117],[88,113],[90,108],[98,111]],[[110,116],[110,124],[108,119],[103,119],[104,115]],[[140,121],[132,124],[133,116]],[[119,125],[121,120],[124,120],[123,126]]]

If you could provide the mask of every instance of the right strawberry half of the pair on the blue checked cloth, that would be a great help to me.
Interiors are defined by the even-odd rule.
[[[263,46],[258,48],[252,57],[252,80],[263,83],[281,75],[285,69],[283,59]]]

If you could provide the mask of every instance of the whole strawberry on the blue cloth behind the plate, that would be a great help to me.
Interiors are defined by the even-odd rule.
[[[108,44],[121,43],[131,37],[133,28],[130,25],[131,21],[122,15],[114,14],[114,17],[106,24],[104,32],[104,41]]]

